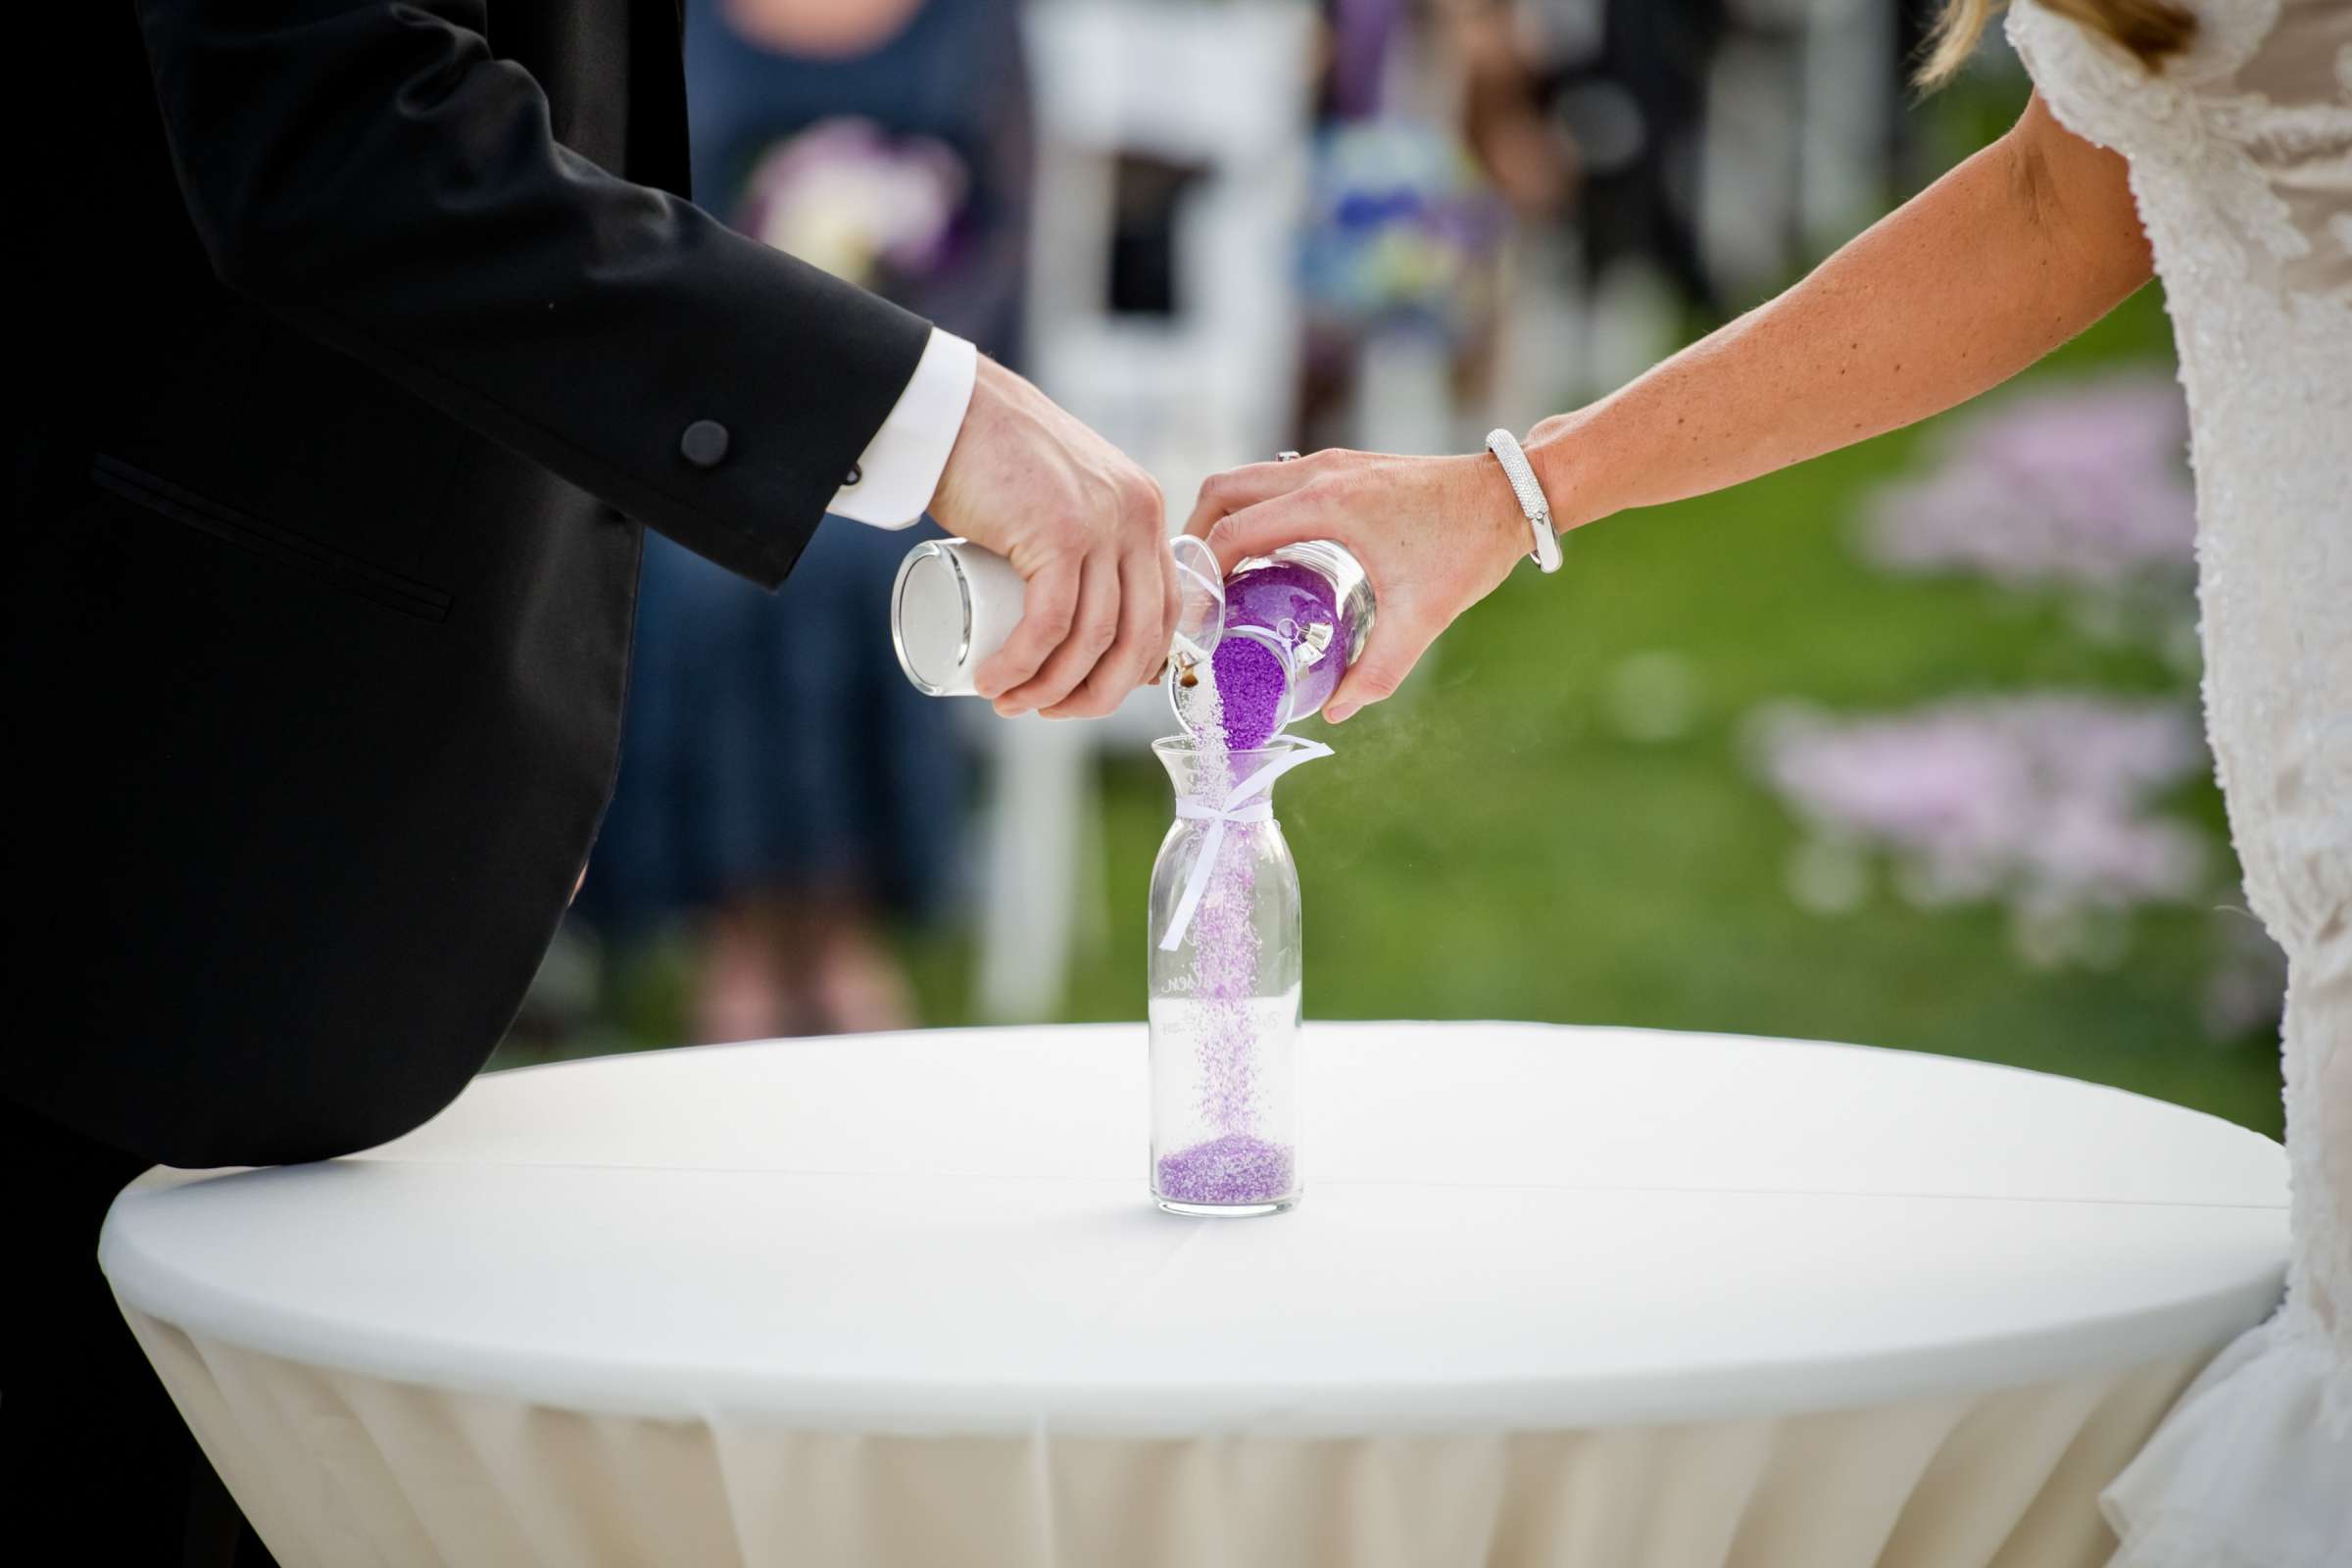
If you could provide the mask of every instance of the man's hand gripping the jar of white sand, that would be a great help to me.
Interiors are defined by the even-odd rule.
[[[1101,717],[1167,661],[1176,576],[1160,487],[995,360],[981,360],[931,515],[1028,583],[1021,625],[974,672],[997,712]]]

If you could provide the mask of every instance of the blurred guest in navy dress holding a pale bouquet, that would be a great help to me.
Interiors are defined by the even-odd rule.
[[[1021,331],[1030,188],[1016,0],[689,0],[694,188],[734,228],[983,353]],[[964,776],[953,710],[889,649],[913,541],[826,529],[774,597],[649,541],[621,778],[583,910],[687,919],[689,1030],[887,1030],[887,926],[936,910]]]

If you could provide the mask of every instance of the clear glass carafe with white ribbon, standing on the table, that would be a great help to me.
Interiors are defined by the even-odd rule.
[[[1152,863],[1152,1197],[1169,1213],[1298,1201],[1298,867],[1275,780],[1329,748],[1155,741],[1176,823]]]

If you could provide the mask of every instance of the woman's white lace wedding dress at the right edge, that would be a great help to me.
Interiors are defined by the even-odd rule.
[[[2150,73],[2020,0],[2051,113],[2122,153],[2190,397],[2206,729],[2288,954],[2293,1260],[2105,1495],[2119,1568],[2352,1566],[2352,0],[2192,0]]]

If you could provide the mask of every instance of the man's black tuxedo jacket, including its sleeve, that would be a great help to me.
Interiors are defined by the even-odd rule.
[[[781,581],[927,327],[687,205],[675,0],[33,9],[0,1088],[365,1147],[562,917],[640,524]]]

